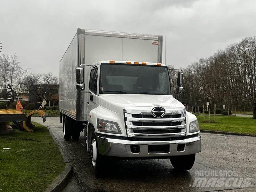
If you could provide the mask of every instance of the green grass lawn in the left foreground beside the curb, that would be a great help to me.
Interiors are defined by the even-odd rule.
[[[0,135],[0,191],[44,191],[65,163],[46,127]],[[10,148],[10,149],[3,149]]]

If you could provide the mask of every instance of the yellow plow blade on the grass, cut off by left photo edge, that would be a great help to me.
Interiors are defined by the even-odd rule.
[[[9,122],[22,122],[26,119],[26,114],[21,110],[0,109],[0,134],[8,134],[14,132]]]

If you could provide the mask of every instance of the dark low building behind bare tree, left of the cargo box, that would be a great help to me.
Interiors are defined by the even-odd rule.
[[[28,102],[41,103],[45,98],[45,101],[47,102],[46,106],[59,106],[59,89],[59,85],[30,85],[28,92]]]

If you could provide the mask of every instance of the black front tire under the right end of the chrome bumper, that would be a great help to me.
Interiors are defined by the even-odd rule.
[[[179,171],[187,171],[194,165],[196,154],[184,155],[184,156],[172,156],[170,158],[174,169]]]

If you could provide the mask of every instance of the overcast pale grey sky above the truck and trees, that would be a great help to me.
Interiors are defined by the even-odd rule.
[[[177,68],[256,35],[255,0],[1,0],[0,7],[2,53],[57,76],[77,28],[166,34],[166,63]]]

